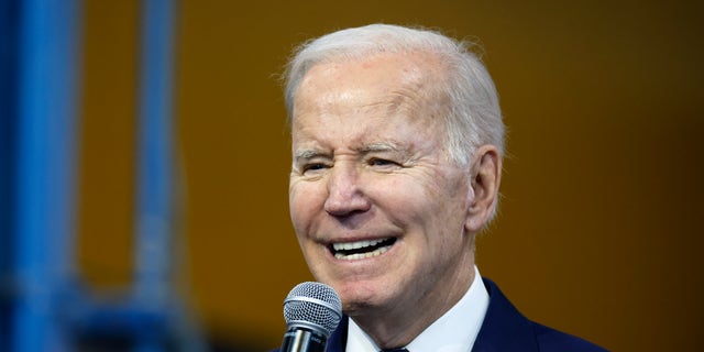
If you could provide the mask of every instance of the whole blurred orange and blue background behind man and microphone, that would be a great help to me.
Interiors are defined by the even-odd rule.
[[[373,22],[479,41],[508,125],[482,274],[614,351],[704,314],[695,1],[0,0],[0,351],[266,351],[311,279],[279,74]]]

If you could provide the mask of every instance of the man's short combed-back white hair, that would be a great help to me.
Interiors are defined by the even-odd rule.
[[[492,144],[504,155],[504,122],[488,72],[470,44],[438,32],[371,24],[333,32],[300,45],[286,69],[285,99],[293,119],[296,89],[315,65],[361,59],[378,53],[427,52],[447,65],[441,90],[449,98],[446,129],[451,161],[468,165],[476,147]]]

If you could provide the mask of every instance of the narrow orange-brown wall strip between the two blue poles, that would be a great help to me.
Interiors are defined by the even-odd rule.
[[[84,2],[78,261],[86,278],[130,279],[136,153],[136,1]]]

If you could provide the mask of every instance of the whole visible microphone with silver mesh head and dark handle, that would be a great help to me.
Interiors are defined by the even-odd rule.
[[[286,333],[280,352],[324,352],[330,333],[342,319],[342,304],[332,287],[296,285],[284,300]]]

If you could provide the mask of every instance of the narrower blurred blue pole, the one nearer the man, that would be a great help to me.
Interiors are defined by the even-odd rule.
[[[172,278],[173,54],[175,3],[145,0],[142,8],[142,85],[136,219],[138,301],[167,311]],[[154,334],[144,334],[135,350],[160,351]]]

